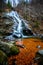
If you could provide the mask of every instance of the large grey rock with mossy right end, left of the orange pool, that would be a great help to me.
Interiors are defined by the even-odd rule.
[[[17,48],[17,46],[15,46],[15,42],[14,43],[0,43],[0,50],[2,50],[4,53],[6,53],[7,56],[11,56],[11,55],[16,55],[19,53],[19,49]]]

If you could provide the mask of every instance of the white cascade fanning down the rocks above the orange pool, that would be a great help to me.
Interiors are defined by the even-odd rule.
[[[21,35],[23,35],[24,28],[31,30],[29,24],[27,24],[16,11],[10,11],[6,13],[6,15],[13,18],[13,35],[17,35],[18,37],[20,37]]]

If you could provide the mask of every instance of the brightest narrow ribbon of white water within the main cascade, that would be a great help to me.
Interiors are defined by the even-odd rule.
[[[19,18],[19,15],[18,15],[18,13],[16,12],[16,11],[11,11],[10,13],[7,13],[7,15],[8,16],[10,16],[10,17],[12,17],[13,18],[13,20],[14,20],[14,22],[15,22],[15,25],[17,26],[17,31],[18,31],[18,33],[21,33],[21,20],[20,20],[20,18]],[[17,20],[17,21],[15,21],[15,19]],[[18,24],[18,25],[17,25]],[[15,27],[15,26],[14,26]],[[14,30],[14,32],[15,32],[15,30]]]

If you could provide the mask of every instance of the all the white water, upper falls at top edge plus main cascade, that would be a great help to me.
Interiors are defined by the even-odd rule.
[[[26,3],[31,2],[31,0],[4,0],[4,1],[5,1],[5,3],[8,3],[8,1],[9,1],[12,7],[16,7],[18,4],[20,4],[22,2],[26,2]],[[25,28],[27,30],[31,30],[30,27],[28,26],[29,24],[27,24],[25,22],[25,20],[22,19],[16,11],[10,11],[10,12],[6,13],[6,15],[13,18],[13,22],[14,22],[13,35],[21,37],[21,36],[23,36],[23,30],[25,30]]]

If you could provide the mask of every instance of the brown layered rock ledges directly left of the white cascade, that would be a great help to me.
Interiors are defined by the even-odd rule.
[[[12,35],[12,26],[13,26],[14,22],[13,19],[10,18],[9,16],[5,16],[5,14],[3,14],[0,17],[0,36],[9,36]]]

